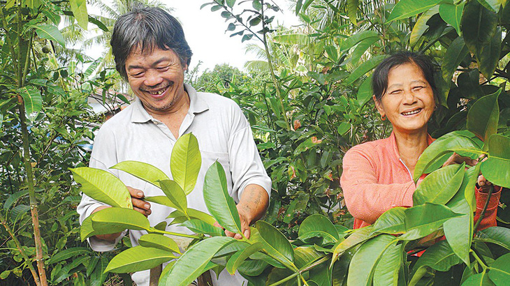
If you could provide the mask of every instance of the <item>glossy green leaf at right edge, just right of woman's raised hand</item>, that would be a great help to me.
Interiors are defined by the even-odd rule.
[[[488,146],[489,156],[481,163],[481,173],[496,186],[510,188],[510,137],[492,135]]]

